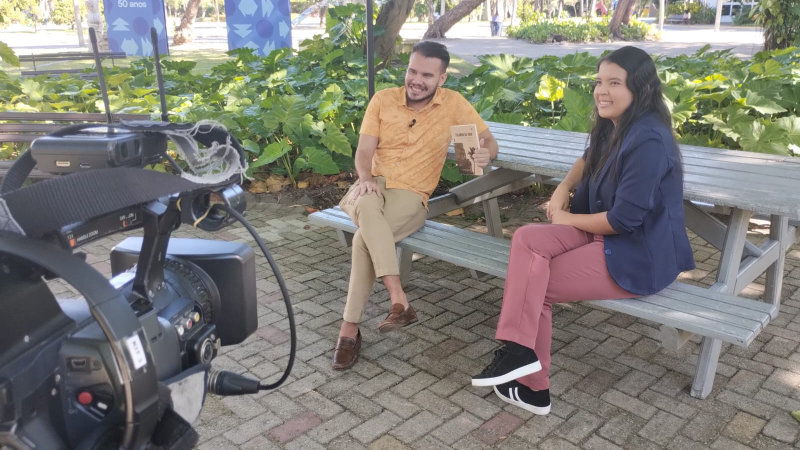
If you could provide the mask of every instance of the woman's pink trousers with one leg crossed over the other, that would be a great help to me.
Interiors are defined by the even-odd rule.
[[[517,381],[549,389],[553,304],[632,297],[608,273],[603,236],[568,225],[526,225],[511,239],[495,337],[532,348],[542,370]]]

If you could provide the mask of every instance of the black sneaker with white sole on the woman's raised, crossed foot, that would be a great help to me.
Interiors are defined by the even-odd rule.
[[[542,364],[532,349],[509,341],[495,350],[494,360],[483,372],[472,378],[472,385],[497,386],[540,370]]]

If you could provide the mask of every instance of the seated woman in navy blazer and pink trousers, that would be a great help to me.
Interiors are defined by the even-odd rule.
[[[680,152],[650,55],[623,47],[600,60],[594,100],[589,148],[550,199],[552,224],[514,233],[496,334],[505,346],[472,379],[535,414],[550,412],[554,303],[654,294],[694,268]]]

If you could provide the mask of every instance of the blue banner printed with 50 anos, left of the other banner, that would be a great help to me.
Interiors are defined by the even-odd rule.
[[[108,48],[128,56],[153,56],[150,28],[158,33],[158,51],[169,54],[163,0],[104,0]]]

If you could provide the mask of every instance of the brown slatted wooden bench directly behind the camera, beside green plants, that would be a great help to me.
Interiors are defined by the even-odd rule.
[[[102,113],[76,112],[0,112],[0,143],[32,142],[34,139],[52,133],[74,123],[105,123],[107,116]],[[149,114],[112,114],[111,120],[119,123],[122,120],[149,120]],[[13,161],[0,161],[0,178],[2,178]],[[49,178],[50,175],[34,169],[30,178]]]

